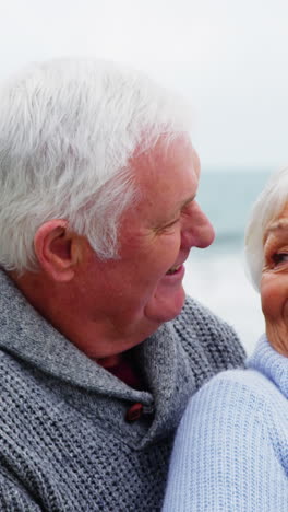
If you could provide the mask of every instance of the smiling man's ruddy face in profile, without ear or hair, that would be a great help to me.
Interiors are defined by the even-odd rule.
[[[175,140],[168,149],[160,140],[131,165],[141,199],[121,219],[120,259],[100,261],[94,253],[87,268],[91,314],[96,319],[101,312],[119,336],[130,339],[119,352],[180,313],[190,249],[214,240],[195,200],[200,163],[188,140]]]

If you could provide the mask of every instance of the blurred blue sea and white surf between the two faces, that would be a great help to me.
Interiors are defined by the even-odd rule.
[[[184,288],[231,324],[250,354],[265,330],[259,293],[244,270],[244,229],[266,171],[203,172],[197,200],[211,219],[216,240],[193,248],[185,264]]]

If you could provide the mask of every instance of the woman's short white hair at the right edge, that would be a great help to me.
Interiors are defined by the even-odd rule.
[[[288,202],[288,167],[273,174],[252,209],[245,231],[245,263],[249,277],[260,290],[264,265],[264,235]]]

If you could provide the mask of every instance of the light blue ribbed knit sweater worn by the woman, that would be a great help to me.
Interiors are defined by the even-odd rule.
[[[164,511],[288,511],[288,358],[263,336],[247,370],[192,397],[178,429]]]

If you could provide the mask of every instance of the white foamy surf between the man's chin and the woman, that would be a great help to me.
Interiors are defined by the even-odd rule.
[[[264,331],[260,294],[245,276],[241,254],[205,251],[192,249],[185,263],[184,289],[232,325],[250,354]]]

